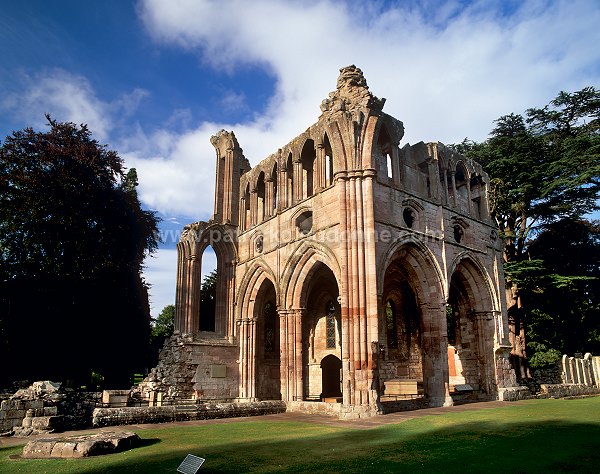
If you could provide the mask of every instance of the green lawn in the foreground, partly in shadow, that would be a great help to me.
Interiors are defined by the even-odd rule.
[[[87,459],[9,459],[0,472],[170,472],[191,453],[201,472],[600,472],[600,397],[534,400],[371,430],[268,421],[140,430],[144,446]]]

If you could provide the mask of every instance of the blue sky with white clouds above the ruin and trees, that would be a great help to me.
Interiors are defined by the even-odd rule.
[[[316,121],[342,66],[387,98],[401,145],[483,140],[501,115],[600,87],[597,0],[1,5],[0,137],[46,112],[87,123],[172,236],[211,215],[210,136],[234,130],[259,162]],[[146,264],[156,315],[174,300],[174,239]]]

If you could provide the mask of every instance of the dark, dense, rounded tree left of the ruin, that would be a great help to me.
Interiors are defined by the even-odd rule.
[[[134,169],[85,125],[48,118],[0,145],[0,377],[123,384],[144,362],[157,218]],[[10,361],[10,362],[8,362]]]

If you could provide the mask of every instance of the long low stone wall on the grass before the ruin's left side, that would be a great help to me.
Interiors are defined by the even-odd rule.
[[[92,415],[94,427],[167,423],[171,421],[209,420],[239,416],[271,415],[285,412],[282,401],[248,403],[200,403],[161,407],[96,408]]]

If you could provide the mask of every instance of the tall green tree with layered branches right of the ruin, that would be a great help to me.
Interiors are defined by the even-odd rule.
[[[457,148],[483,164],[491,178],[490,210],[506,242],[505,271],[514,296],[508,301],[515,326],[513,355],[524,376],[520,361],[526,356],[526,320],[531,327],[529,347],[534,350],[549,350],[547,344],[552,344],[560,352],[581,345],[549,337],[549,326],[560,319],[559,306],[548,304],[550,295],[562,292],[562,298],[573,303],[572,310],[577,304],[587,310],[597,304],[595,295],[582,289],[593,278],[589,268],[579,260],[579,265],[573,263],[569,271],[558,265],[563,257],[549,251],[552,246],[548,236],[556,235],[558,229],[574,232],[575,223],[590,232],[593,228],[584,217],[598,209],[600,91],[586,87],[574,93],[561,92],[543,108],[500,117],[486,142],[465,140]],[[598,245],[597,239],[594,245]],[[565,254],[564,258],[569,257]],[[576,291],[577,295],[573,293]],[[580,299],[584,294],[589,296],[585,302]],[[589,316],[589,312],[586,314]],[[570,329],[555,324],[553,330],[581,326],[581,320],[571,323]]]

